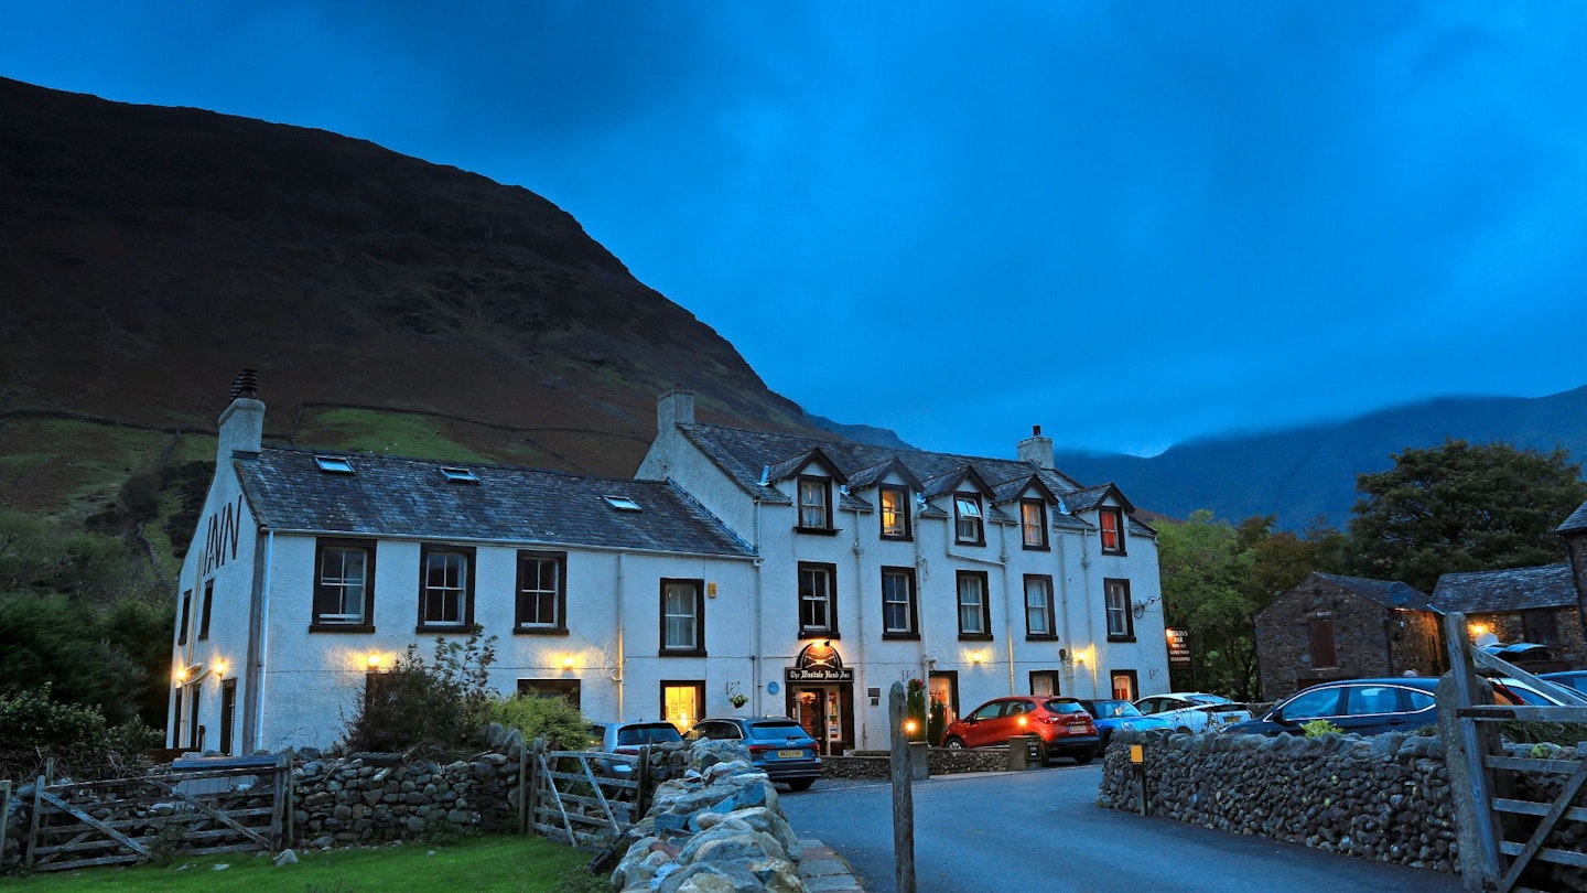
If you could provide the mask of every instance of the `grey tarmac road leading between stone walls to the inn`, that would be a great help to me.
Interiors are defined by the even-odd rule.
[[[916,782],[919,893],[1455,893],[1460,877],[1192,828],[1097,806],[1100,766]],[[897,893],[892,788],[817,782],[779,798],[801,837],[841,855],[870,893]]]

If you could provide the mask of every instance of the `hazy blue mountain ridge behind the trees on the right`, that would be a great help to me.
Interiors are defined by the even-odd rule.
[[[1587,386],[1547,397],[1439,397],[1333,424],[1193,440],[1151,458],[1060,450],[1057,466],[1087,483],[1114,481],[1136,505],[1174,518],[1211,508],[1233,523],[1274,515],[1281,529],[1301,531],[1322,515],[1343,529],[1355,475],[1446,439],[1563,446],[1582,462]]]

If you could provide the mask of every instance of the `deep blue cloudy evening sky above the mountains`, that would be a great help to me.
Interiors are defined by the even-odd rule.
[[[1584,48],[1579,0],[0,0],[0,76],[524,186],[808,410],[997,456],[1587,383]]]

